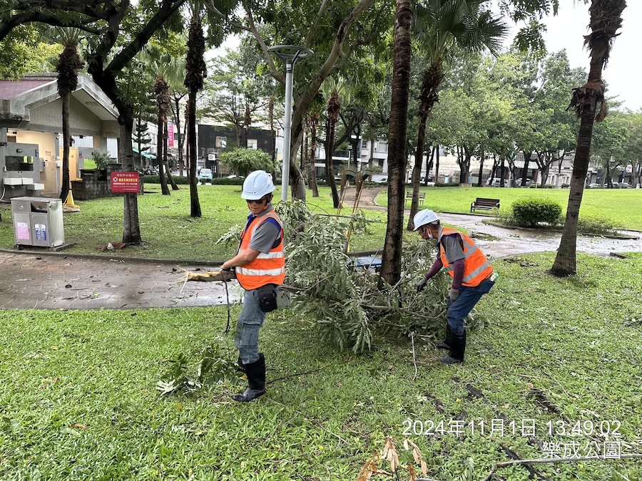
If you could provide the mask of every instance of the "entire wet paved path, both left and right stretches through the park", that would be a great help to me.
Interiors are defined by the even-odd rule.
[[[385,210],[374,205],[379,190],[365,190],[360,207]],[[350,199],[350,191],[346,198]],[[468,229],[490,258],[554,251],[561,238],[558,232],[496,227],[487,223],[491,218],[479,215],[439,214],[439,217],[442,222]],[[642,252],[642,235],[630,234],[638,238],[578,236],[577,250],[601,256]],[[184,281],[186,271],[214,267],[179,264],[77,256],[49,249],[36,254],[0,251],[0,309],[147,309],[227,303],[225,284]],[[228,291],[230,301],[238,300],[242,292],[235,281],[228,283]]]

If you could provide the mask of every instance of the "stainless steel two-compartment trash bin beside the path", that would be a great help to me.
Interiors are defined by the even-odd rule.
[[[65,243],[60,199],[14,197],[11,214],[16,246],[58,247]]]

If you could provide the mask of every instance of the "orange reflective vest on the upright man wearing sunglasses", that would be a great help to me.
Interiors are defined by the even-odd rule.
[[[285,256],[283,255],[283,224],[279,216],[273,210],[260,217],[255,217],[249,225],[243,229],[239,252],[250,248],[250,242],[254,232],[267,219],[275,219],[281,226],[280,241],[277,247],[270,252],[261,252],[258,257],[245,266],[236,267],[236,279],[243,289],[251,291],[258,289],[265,284],[283,284],[285,281]]]

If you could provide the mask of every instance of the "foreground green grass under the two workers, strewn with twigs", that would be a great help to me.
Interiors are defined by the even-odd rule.
[[[586,454],[607,434],[622,453],[642,452],[642,254],[580,254],[566,279],[546,273],[553,258],[496,260],[499,281],[479,304],[491,321],[469,336],[467,362],[439,366],[415,338],[416,378],[407,339],[379,336],[357,356],[318,341],[294,311],[270,314],[261,346],[272,383],[250,404],[228,398],[240,378],[191,396],[155,389],[178,353],[195,363],[213,345],[236,358],[224,308],[0,311],[0,479],[355,480],[385,436],[402,465],[404,438],[417,443],[437,480],[459,479],[469,458],[481,481],[508,452]],[[482,422],[484,435],[472,433]],[[642,479],[639,459],[533,468],[551,480]],[[529,479],[519,466],[496,474]]]

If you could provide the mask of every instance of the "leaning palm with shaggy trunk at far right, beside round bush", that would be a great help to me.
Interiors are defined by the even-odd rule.
[[[551,268],[551,273],[556,276],[570,276],[575,274],[577,270],[577,219],[584,194],[588,160],[591,155],[593,123],[604,120],[607,113],[602,69],[611,54],[613,40],[618,36],[617,31],[622,26],[622,12],[625,8],[625,0],[591,0],[591,6],[588,9],[591,14],[588,24],[591,33],[584,37],[584,45],[590,52],[591,68],[584,86],[573,90],[571,105],[569,105],[569,108],[573,108],[580,119],[580,129],[577,136],[564,231],[555,262]]]

